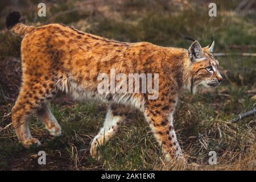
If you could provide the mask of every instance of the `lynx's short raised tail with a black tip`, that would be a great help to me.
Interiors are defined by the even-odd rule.
[[[20,36],[24,36],[32,30],[35,30],[36,27],[34,26],[26,26],[26,24],[20,23],[20,16],[20,13],[16,11],[9,13],[6,17],[6,28]]]

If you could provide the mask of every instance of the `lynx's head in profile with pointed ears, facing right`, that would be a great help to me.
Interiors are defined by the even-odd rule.
[[[223,80],[218,71],[218,61],[213,57],[214,41],[202,48],[195,40],[188,49],[188,89],[195,93],[199,85],[206,88],[218,86]]]

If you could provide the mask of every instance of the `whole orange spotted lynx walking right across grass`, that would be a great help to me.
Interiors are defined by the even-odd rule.
[[[175,106],[181,89],[195,93],[199,85],[212,88],[222,81],[218,61],[212,55],[214,42],[202,48],[195,41],[188,49],[126,43],[64,24],[26,26],[19,19],[20,14],[13,11],[6,18],[6,27],[23,36],[22,86],[11,113],[16,135],[24,146],[40,145],[28,128],[32,114],[38,115],[51,135],[61,134],[48,106],[60,92],[80,101],[91,99],[109,104],[104,126],[91,143],[90,154],[94,158],[98,156],[98,146],[117,133],[127,111],[137,109],[144,114],[166,160],[184,160],[174,129]],[[150,100],[148,93],[98,93],[97,76],[109,75],[110,69],[126,75],[158,73],[158,98]]]

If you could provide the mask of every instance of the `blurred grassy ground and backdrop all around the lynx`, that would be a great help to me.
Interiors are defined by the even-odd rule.
[[[38,16],[38,4],[46,4],[46,17]],[[217,16],[210,17],[209,3]],[[162,152],[142,114],[129,114],[126,125],[101,148],[94,161],[80,150],[88,148],[104,121],[106,105],[75,104],[71,98],[55,100],[53,114],[63,128],[50,137],[42,123],[32,118],[31,132],[43,143],[46,166],[39,166],[37,151],[25,150],[16,139],[10,111],[18,96],[20,42],[8,32],[5,17],[20,11],[22,22],[34,26],[64,23],[78,30],[123,42],[150,42],[159,46],[188,48],[199,40],[207,46],[213,37],[214,53],[225,81],[213,90],[192,95],[181,93],[175,127],[190,166],[164,164]],[[231,123],[238,114],[253,109],[256,100],[256,2],[107,0],[107,1],[0,1],[0,169],[248,169],[255,170],[255,114]],[[209,166],[209,151],[217,152],[217,165]]]

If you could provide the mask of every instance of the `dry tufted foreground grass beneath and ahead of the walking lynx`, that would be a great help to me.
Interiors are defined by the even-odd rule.
[[[220,90],[223,89],[226,95],[220,96]],[[210,93],[195,96],[187,92],[181,94],[175,114],[175,127],[188,162],[200,164],[199,167],[164,164],[164,156],[158,144],[142,114],[137,111],[130,113],[121,131],[106,146],[101,147],[100,161],[97,162],[90,155],[79,152],[90,146],[90,141],[97,134],[106,114],[105,105],[90,102],[72,106],[52,105],[53,114],[63,129],[61,137],[51,137],[38,119],[32,119],[31,133],[42,141],[43,146],[40,148],[24,149],[18,144],[11,127],[6,129],[0,137],[0,165],[2,169],[32,169],[31,164],[35,166],[33,169],[254,170],[255,117],[229,123],[236,114],[251,109],[253,105],[253,101],[244,91],[245,89],[241,89],[241,92],[234,93],[232,88],[223,85]],[[35,164],[35,154],[40,150],[46,151],[46,166]],[[208,153],[212,150],[217,152],[216,166],[208,164]],[[20,159],[27,165],[18,165],[17,160]],[[245,164],[246,166],[243,166]]]

